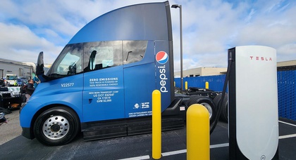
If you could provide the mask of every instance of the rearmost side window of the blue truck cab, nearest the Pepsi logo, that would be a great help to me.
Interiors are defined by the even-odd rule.
[[[123,41],[123,64],[139,62],[144,58],[148,41]]]

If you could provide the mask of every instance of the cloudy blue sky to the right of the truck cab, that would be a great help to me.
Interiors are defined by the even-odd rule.
[[[295,4],[290,3],[281,6],[279,1],[185,3],[183,68],[226,67],[228,48],[245,45],[271,46],[277,49],[278,61],[295,60],[295,8]],[[173,20],[173,25],[179,25],[178,19]],[[178,29],[174,32],[177,33],[174,35],[175,70],[179,70],[180,36]]]

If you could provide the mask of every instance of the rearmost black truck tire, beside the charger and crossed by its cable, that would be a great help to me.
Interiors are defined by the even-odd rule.
[[[218,111],[218,102],[221,100],[221,98],[222,98],[222,94],[218,94],[214,98],[214,102],[217,106],[217,111]],[[219,119],[221,121],[228,122],[228,94],[227,93],[225,94],[225,98],[222,102],[221,109],[222,110],[221,110],[221,114],[220,114]]]

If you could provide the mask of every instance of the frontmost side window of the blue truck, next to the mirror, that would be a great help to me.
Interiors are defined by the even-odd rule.
[[[68,44],[58,56],[47,73],[56,79],[82,73],[82,47],[83,44]]]

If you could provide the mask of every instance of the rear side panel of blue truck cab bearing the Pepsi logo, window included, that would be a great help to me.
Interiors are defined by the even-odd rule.
[[[171,104],[173,53],[169,51],[169,43],[123,42],[125,117],[152,115],[152,92],[155,89],[161,91],[161,111]]]

